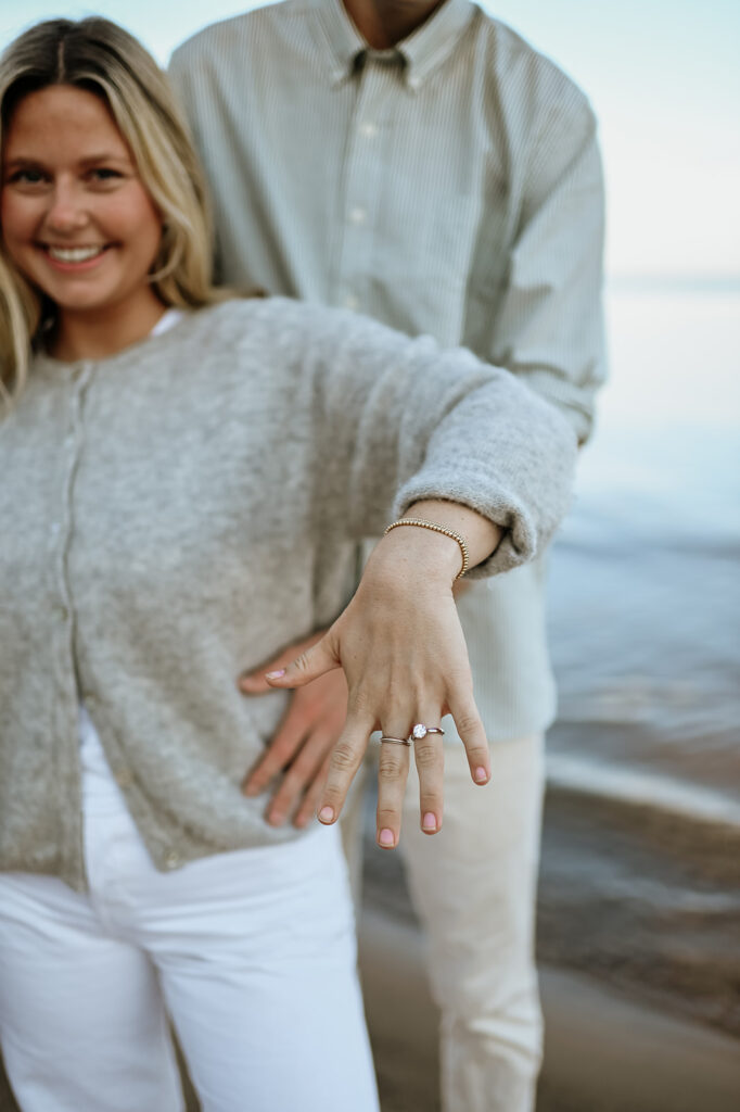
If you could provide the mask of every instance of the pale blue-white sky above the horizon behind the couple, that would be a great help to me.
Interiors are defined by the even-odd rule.
[[[123,23],[166,62],[240,0],[3,0],[0,46],[52,16]],[[740,276],[740,4],[500,0],[481,4],[558,61],[601,125],[612,275]]]

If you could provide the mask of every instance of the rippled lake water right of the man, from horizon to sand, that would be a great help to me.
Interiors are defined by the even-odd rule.
[[[608,309],[551,560],[540,951],[740,1033],[740,289]]]

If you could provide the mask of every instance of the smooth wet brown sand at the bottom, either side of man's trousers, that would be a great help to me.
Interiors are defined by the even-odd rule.
[[[413,924],[366,909],[360,964],[382,1112],[440,1108],[437,1010]],[[540,971],[547,1024],[538,1112],[737,1112],[740,1043],[637,1005],[580,974]]]

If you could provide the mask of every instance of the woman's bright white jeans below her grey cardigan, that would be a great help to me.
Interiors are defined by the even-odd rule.
[[[0,875],[0,1035],[23,1112],[377,1112],[336,828],[158,873],[86,773],[90,893]]]

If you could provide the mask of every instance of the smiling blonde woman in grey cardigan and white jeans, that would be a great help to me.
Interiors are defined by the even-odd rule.
[[[206,1110],[371,1110],[333,824],[374,729],[382,846],[411,738],[440,828],[448,711],[487,782],[452,582],[547,543],[574,438],[468,353],[214,291],[180,117],[113,24],[21,36],[0,113],[11,1084],[31,1112],[179,1108],[169,1015]],[[342,612],[357,542],[394,518]],[[240,673],[332,620],[244,703]],[[286,689],[338,666],[324,825],[271,827],[243,770]]]

